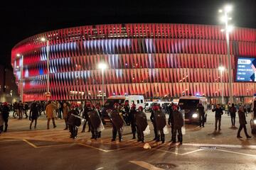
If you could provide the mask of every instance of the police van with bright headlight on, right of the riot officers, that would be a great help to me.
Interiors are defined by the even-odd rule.
[[[178,106],[181,110],[184,110],[185,121],[191,123],[199,122],[199,114],[197,111],[198,103],[201,103],[207,111],[207,100],[205,97],[200,96],[183,96],[178,100]],[[205,114],[205,120],[207,118],[207,113]]]

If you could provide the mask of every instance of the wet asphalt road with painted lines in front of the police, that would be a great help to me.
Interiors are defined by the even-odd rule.
[[[247,122],[250,115],[247,117]],[[230,128],[230,118],[223,115],[222,130],[214,130],[214,114],[208,112],[206,128],[186,125],[183,145],[151,141],[151,149],[132,140],[131,130],[124,127],[124,141],[111,142],[107,125],[99,140],[90,140],[90,133],[80,133],[75,140],[63,130],[46,130],[46,119],[38,120],[38,128],[29,130],[28,120],[11,118],[9,132],[0,135],[0,169],[256,169],[256,137],[236,138],[237,128]],[[238,120],[237,124],[238,126]],[[247,125],[250,134],[250,125]],[[87,128],[86,128],[87,130]]]

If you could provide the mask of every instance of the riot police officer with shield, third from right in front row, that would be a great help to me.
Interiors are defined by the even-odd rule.
[[[135,121],[137,125],[137,137],[138,142],[144,142],[144,133],[143,131],[146,130],[147,121],[146,121],[146,114],[143,112],[143,107],[139,106],[139,111],[135,114]]]

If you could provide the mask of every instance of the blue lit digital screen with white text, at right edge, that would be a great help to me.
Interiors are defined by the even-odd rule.
[[[256,82],[256,58],[238,57],[236,81]]]

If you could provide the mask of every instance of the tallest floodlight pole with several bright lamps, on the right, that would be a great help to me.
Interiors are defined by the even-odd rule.
[[[233,103],[233,72],[231,66],[231,57],[230,57],[230,42],[229,42],[229,33],[233,30],[233,26],[228,26],[228,21],[232,20],[232,18],[228,17],[228,13],[232,11],[232,6],[226,5],[223,9],[219,9],[219,13],[224,13],[224,16],[220,18],[220,21],[225,23],[225,30],[222,29],[221,31],[225,31],[226,42],[227,42],[227,53],[228,53],[228,89],[229,89],[229,96],[230,96],[230,103]]]

